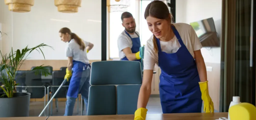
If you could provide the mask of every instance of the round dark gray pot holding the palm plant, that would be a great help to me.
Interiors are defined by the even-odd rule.
[[[30,93],[25,92],[16,92],[13,98],[0,98],[0,117],[28,117],[29,102]]]

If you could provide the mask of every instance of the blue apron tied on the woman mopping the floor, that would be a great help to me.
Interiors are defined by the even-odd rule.
[[[79,61],[73,61],[72,76],[70,79],[67,96],[77,98],[79,93],[80,80],[83,73],[83,68],[87,69],[90,64],[85,64]]]

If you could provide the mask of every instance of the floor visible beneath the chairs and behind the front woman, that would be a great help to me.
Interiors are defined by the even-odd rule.
[[[202,105],[203,107],[203,105]],[[30,110],[29,110],[29,116],[38,116],[41,111],[44,109],[44,102],[30,102]],[[55,107],[55,102],[53,101],[53,107],[52,107],[52,116],[63,116],[65,113],[65,102],[58,102],[58,112]],[[159,97],[151,97],[147,104],[147,114],[157,114],[162,113],[161,103]],[[202,108],[203,110],[203,108]],[[47,110],[46,110],[47,112]],[[214,111],[218,112],[218,111]],[[49,112],[50,113],[50,112]],[[77,102],[74,107],[73,115],[81,115],[81,109],[79,104],[79,112],[77,112]],[[44,116],[44,114],[42,114]]]

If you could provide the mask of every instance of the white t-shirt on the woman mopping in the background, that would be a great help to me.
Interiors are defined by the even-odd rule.
[[[85,47],[87,47],[89,45],[89,42],[87,42],[87,41],[84,41],[84,43],[85,43]],[[74,39],[72,39],[66,47],[66,56],[73,57],[74,61],[79,61],[79,62],[83,62],[85,64],[89,64],[89,59],[87,58],[86,49],[84,49],[84,51],[82,51],[80,49],[79,44],[77,44],[77,42]]]

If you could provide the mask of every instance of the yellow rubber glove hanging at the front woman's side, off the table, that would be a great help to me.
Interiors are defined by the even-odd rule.
[[[214,112],[214,105],[211,101],[211,97],[209,95],[208,91],[208,81],[205,82],[199,82],[200,90],[202,93],[202,100],[204,101],[204,112],[210,113]]]

